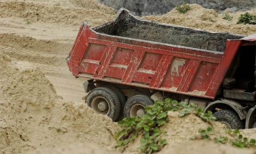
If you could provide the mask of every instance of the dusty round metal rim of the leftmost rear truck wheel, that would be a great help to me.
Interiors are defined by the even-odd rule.
[[[109,104],[107,100],[101,96],[95,97],[92,99],[91,107],[99,114],[108,114],[109,113]]]

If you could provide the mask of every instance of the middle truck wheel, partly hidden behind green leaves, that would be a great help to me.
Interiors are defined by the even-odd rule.
[[[153,100],[147,95],[132,96],[124,105],[124,117],[141,117],[145,114],[145,107],[153,104]]]

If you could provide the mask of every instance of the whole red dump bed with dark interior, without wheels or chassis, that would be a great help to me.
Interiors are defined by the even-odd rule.
[[[101,26],[83,23],[67,64],[76,77],[213,99],[242,37],[137,19],[121,9]]]

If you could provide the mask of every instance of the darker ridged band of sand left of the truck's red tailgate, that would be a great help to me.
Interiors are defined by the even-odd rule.
[[[37,40],[10,33],[0,34],[0,44],[6,48],[15,48],[8,52],[3,51],[12,58],[53,66],[66,66],[65,57],[72,48],[72,44]]]

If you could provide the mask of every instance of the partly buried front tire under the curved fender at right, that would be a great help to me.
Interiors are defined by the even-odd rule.
[[[244,128],[242,120],[233,110],[219,110],[213,114],[216,117],[215,121],[220,121],[227,129],[242,129]]]

